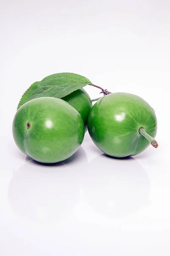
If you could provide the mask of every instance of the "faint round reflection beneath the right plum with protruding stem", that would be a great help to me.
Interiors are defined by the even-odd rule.
[[[82,186],[88,204],[112,218],[125,217],[150,204],[147,173],[133,157],[95,157],[88,165]]]

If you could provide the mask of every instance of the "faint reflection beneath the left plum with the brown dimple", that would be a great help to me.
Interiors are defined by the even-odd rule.
[[[34,221],[65,218],[79,203],[79,169],[73,168],[79,160],[87,161],[82,148],[61,163],[41,164],[30,160],[21,166],[13,173],[8,186],[12,209]]]

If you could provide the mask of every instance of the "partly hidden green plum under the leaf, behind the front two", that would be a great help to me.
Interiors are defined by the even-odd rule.
[[[86,125],[88,114],[92,108],[91,98],[88,93],[84,89],[76,90],[62,99],[68,102],[79,112],[79,114],[82,116],[84,124]]]

